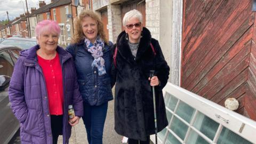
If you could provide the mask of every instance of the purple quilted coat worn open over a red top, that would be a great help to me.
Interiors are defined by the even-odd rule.
[[[9,88],[9,99],[14,115],[20,121],[21,143],[52,143],[51,118],[42,68],[36,51],[39,45],[22,51],[14,66]],[[71,126],[68,124],[68,105],[73,105],[77,116],[83,115],[83,100],[78,91],[72,56],[57,47],[63,77],[63,144],[68,143]]]

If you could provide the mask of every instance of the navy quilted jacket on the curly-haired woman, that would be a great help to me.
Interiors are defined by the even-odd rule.
[[[103,48],[103,59],[105,60],[105,68],[107,74],[99,76],[97,67],[91,68],[94,58],[85,47],[84,41],[71,44],[67,47],[67,51],[73,55],[77,73],[77,81],[79,91],[83,100],[90,106],[99,106],[103,103],[113,100],[113,94],[110,85],[110,47],[113,44],[109,42],[109,46],[105,43]]]

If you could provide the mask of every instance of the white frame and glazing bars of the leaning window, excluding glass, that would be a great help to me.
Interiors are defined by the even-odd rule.
[[[226,129],[236,133],[237,135],[246,139],[247,141],[250,141],[252,143],[256,142],[256,137],[255,137],[256,122],[253,121],[252,119],[244,117],[243,115],[235,113],[234,111],[228,110],[227,108],[222,107],[217,103],[214,103],[210,100],[200,97],[195,93],[182,89],[181,87],[171,84],[170,82],[168,82],[167,85],[164,87],[163,93],[165,97],[166,97],[166,93],[169,93],[173,97],[178,99],[178,102],[173,111],[166,107],[166,110],[172,113],[172,118],[170,120],[170,123],[172,123],[173,116],[175,116],[176,118],[178,118],[180,121],[182,121],[184,124],[188,126],[188,130],[187,130],[185,139],[182,140],[178,137],[177,134],[175,134],[167,126],[166,127],[167,131],[165,133],[164,139],[161,140],[158,137],[158,143],[165,143],[168,133],[171,133],[177,140],[185,144],[186,140],[188,139],[190,131],[194,130],[198,135],[200,135],[206,141],[208,141],[209,143],[215,144],[218,141],[218,138],[220,136],[220,133],[223,127],[226,127]],[[187,123],[177,114],[175,114],[175,111],[177,110],[177,107],[179,106],[180,101],[185,102],[187,105],[189,105],[190,107],[193,107],[196,110],[195,114],[191,118],[190,123]],[[193,123],[195,122],[195,117],[198,114],[198,112],[204,114],[205,116],[211,118],[213,121],[219,123],[218,130],[215,133],[213,140],[207,138],[204,133],[198,131],[193,126]],[[169,123],[169,126],[170,126],[170,123]],[[155,135],[151,135],[150,139],[155,143]]]

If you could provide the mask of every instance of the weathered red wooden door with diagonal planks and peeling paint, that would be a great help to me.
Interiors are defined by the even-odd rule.
[[[256,119],[256,19],[251,2],[184,1],[181,86],[222,106],[227,98],[236,98],[236,112]]]

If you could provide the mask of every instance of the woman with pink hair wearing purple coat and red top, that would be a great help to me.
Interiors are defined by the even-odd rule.
[[[56,143],[63,135],[68,143],[71,126],[83,116],[83,100],[78,90],[76,70],[71,54],[58,46],[57,22],[37,23],[38,45],[21,51],[14,66],[9,99],[20,121],[21,143]],[[73,105],[75,116],[69,118]]]

